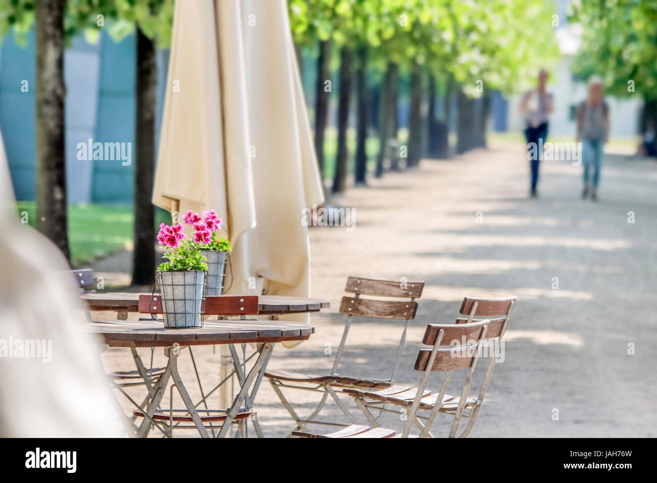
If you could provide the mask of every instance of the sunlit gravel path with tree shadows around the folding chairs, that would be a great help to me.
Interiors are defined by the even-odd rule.
[[[522,145],[508,143],[425,160],[418,170],[350,189],[337,202],[355,209],[355,230],[311,229],[313,295],[330,299],[332,308],[311,317],[311,340],[278,347],[269,367],[330,369],[325,347],[340,342],[337,309],[349,275],[426,282],[397,377],[413,384],[427,323],[452,323],[465,295],[514,294],[505,361],[495,367],[471,437],[657,436],[656,166],[621,156],[604,163],[599,202],[581,199],[581,167],[554,161],[541,166],[539,198],[530,200]],[[356,321],[340,373],[387,377],[400,334],[397,321]],[[218,350],[196,348],[194,356],[209,387],[218,379]],[[127,350],[104,358],[108,369],[131,367]],[[162,350],[155,359],[164,362]],[[189,357],[181,359],[183,377],[193,377]],[[317,400],[288,394],[301,413]],[[257,409],[267,436],[294,426],[266,380]],[[323,413],[337,416],[334,404]],[[400,419],[385,415],[381,424],[401,428]],[[434,434],[447,434],[447,419]]]

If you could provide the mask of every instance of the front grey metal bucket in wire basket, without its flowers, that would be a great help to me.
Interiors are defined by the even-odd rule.
[[[206,277],[205,270],[157,272],[164,327],[203,327]]]

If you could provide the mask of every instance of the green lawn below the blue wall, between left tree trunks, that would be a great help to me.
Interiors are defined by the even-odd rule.
[[[28,214],[36,224],[36,203],[19,201],[18,214]],[[156,226],[170,222],[168,212],[156,210]],[[87,264],[118,250],[132,248],[132,206],[108,204],[72,204],[68,206],[68,242],[73,266]],[[155,240],[153,240],[155,243]]]

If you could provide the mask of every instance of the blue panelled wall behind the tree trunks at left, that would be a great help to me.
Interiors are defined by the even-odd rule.
[[[34,32],[25,46],[12,34],[0,45],[0,129],[18,200],[35,198]],[[159,138],[168,51],[158,52]],[[28,92],[21,92],[21,81]],[[135,155],[135,36],[119,43],[102,33],[96,45],[73,39],[64,55],[66,82],[66,181],[72,203],[132,202]],[[132,162],[78,160],[78,143],[131,143]],[[159,146],[159,141],[156,147]]]

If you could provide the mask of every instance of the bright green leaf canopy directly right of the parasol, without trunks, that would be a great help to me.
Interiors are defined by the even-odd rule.
[[[390,60],[413,64],[438,80],[453,77],[474,95],[520,91],[558,57],[552,1],[536,0],[288,0],[294,40],[369,47],[378,71]],[[336,49],[334,49],[336,50]]]

